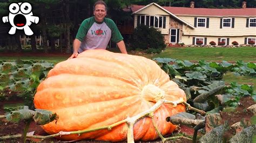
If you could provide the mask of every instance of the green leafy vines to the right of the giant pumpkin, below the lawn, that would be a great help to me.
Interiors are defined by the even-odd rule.
[[[251,85],[231,83],[231,86],[225,87],[223,82],[223,74],[227,71],[255,76],[255,63],[242,61],[237,61],[235,64],[227,61],[191,63],[169,58],[154,60],[161,63],[161,68],[167,71],[172,80],[185,91],[188,102],[195,108],[218,112],[222,106],[237,106],[243,96],[256,97]],[[217,94],[221,96],[216,97]],[[190,98],[193,100],[189,100]]]

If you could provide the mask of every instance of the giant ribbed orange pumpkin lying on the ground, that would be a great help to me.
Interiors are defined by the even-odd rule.
[[[57,123],[43,129],[54,134],[111,125],[127,117],[149,110],[158,100],[154,89],[164,93],[165,99],[178,101],[186,96],[178,85],[170,81],[156,62],[142,56],[112,53],[106,50],[87,50],[75,59],[58,63],[37,88],[35,107],[56,112]],[[176,126],[165,118],[184,112],[185,106],[164,103],[154,112],[154,121],[162,135]],[[81,135],[62,135],[64,140],[96,139],[122,141],[127,139],[127,124],[112,130],[99,130]],[[150,117],[137,121],[134,140],[158,138]]]

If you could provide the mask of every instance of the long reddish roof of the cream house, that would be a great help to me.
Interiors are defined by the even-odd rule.
[[[135,12],[145,5],[131,5],[132,12]],[[183,8],[173,6],[162,6],[162,8],[174,15],[199,15],[199,16],[256,16],[256,8],[245,9],[206,9],[206,8]]]

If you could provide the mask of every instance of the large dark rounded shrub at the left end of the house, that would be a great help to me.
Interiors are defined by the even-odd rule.
[[[155,28],[149,28],[145,25],[140,25],[135,28],[132,33],[131,47],[133,49],[164,49],[166,47],[164,42],[164,35]]]

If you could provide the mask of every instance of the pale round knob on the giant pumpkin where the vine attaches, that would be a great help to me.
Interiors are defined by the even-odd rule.
[[[165,92],[156,85],[148,84],[142,89],[142,97],[144,97],[146,101],[158,102],[160,99],[165,98]]]

